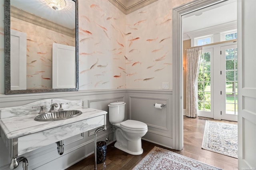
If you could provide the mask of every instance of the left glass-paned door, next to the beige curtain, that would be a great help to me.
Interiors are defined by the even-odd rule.
[[[198,116],[213,118],[212,100],[213,49],[203,49],[198,73]]]

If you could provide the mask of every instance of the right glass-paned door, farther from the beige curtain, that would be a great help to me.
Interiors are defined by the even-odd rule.
[[[221,119],[237,121],[237,45],[221,47]]]

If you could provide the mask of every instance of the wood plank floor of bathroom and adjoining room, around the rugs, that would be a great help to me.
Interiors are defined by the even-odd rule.
[[[107,146],[106,161],[102,164],[97,164],[98,170],[131,170],[148,152],[158,146],[176,152],[178,154],[187,156],[189,158],[198,160],[200,162],[222,168],[224,170],[238,170],[238,160],[230,156],[225,156],[201,148],[202,138],[204,134],[205,119],[214,121],[209,118],[188,118],[184,116],[184,147],[183,150],[172,150],[159,146],[157,144],[142,140],[142,148],[144,150],[142,155],[134,156],[127,154],[117,148],[114,148],[114,143]],[[220,122],[220,121],[218,121]],[[224,123],[237,124],[231,121],[221,121]],[[93,170],[94,169],[94,155],[90,155],[84,160],[70,166],[66,170]]]

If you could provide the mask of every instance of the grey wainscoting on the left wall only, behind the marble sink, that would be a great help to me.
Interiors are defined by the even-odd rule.
[[[125,90],[102,90],[102,91],[76,91],[57,93],[31,93],[20,95],[0,95],[0,107],[13,107],[28,104],[34,101],[59,98],[68,100],[82,99],[85,107],[108,111],[108,104],[117,100],[125,100]],[[127,102],[127,101],[124,101]],[[108,122],[107,130],[98,133],[97,140],[105,141],[110,138],[114,142],[115,138]],[[64,154],[58,155],[56,143],[49,144],[42,148],[23,154],[28,159],[28,169],[35,170],[61,170],[68,168],[72,164],[86,158],[94,152],[94,130],[72,136],[64,140]],[[0,170],[9,170],[10,153],[2,139],[0,139]],[[109,143],[109,142],[108,142]],[[22,170],[22,162],[16,170]]]

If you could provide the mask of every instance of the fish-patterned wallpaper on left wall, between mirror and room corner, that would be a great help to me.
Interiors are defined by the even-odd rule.
[[[125,15],[107,0],[80,0],[79,89],[126,88]]]

